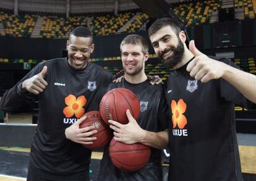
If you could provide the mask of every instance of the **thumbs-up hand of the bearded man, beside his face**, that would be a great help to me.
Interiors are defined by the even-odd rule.
[[[187,65],[187,71],[191,77],[205,83],[212,79],[218,79],[224,74],[224,63],[210,59],[201,53],[196,47],[194,40],[189,42],[189,50],[195,58]]]

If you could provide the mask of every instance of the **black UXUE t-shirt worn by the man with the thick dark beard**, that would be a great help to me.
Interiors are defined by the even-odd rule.
[[[217,61],[238,68],[228,59]],[[223,78],[195,80],[187,64],[171,72],[165,88],[172,115],[169,180],[242,180],[234,103],[248,109],[255,104]]]

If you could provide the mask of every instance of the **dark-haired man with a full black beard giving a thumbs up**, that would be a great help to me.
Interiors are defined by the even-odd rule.
[[[206,56],[194,41],[188,49],[174,20],[156,20],[148,35],[173,69],[165,88],[172,114],[169,180],[242,180],[234,104],[255,109],[255,75],[226,58]]]

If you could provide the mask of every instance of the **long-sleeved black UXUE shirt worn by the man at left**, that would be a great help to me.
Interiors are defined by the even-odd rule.
[[[38,96],[40,113],[29,170],[46,179],[87,179],[91,150],[68,140],[64,131],[85,112],[98,109],[99,105],[93,101],[96,90],[114,77],[92,62],[85,69],[76,70],[64,58],[36,65],[20,82],[40,73],[44,65],[48,68],[45,77],[48,86]],[[20,82],[4,95],[2,108],[17,108],[25,99],[35,96],[22,94]]]

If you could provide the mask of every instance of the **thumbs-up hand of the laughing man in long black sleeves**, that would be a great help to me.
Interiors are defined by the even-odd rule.
[[[33,77],[24,80],[24,82],[22,82],[22,91],[28,91],[30,93],[33,93],[34,95],[39,95],[40,93],[42,93],[48,85],[48,83],[44,79],[46,73],[47,67],[44,66],[43,70],[41,70],[39,74],[36,74]]]

